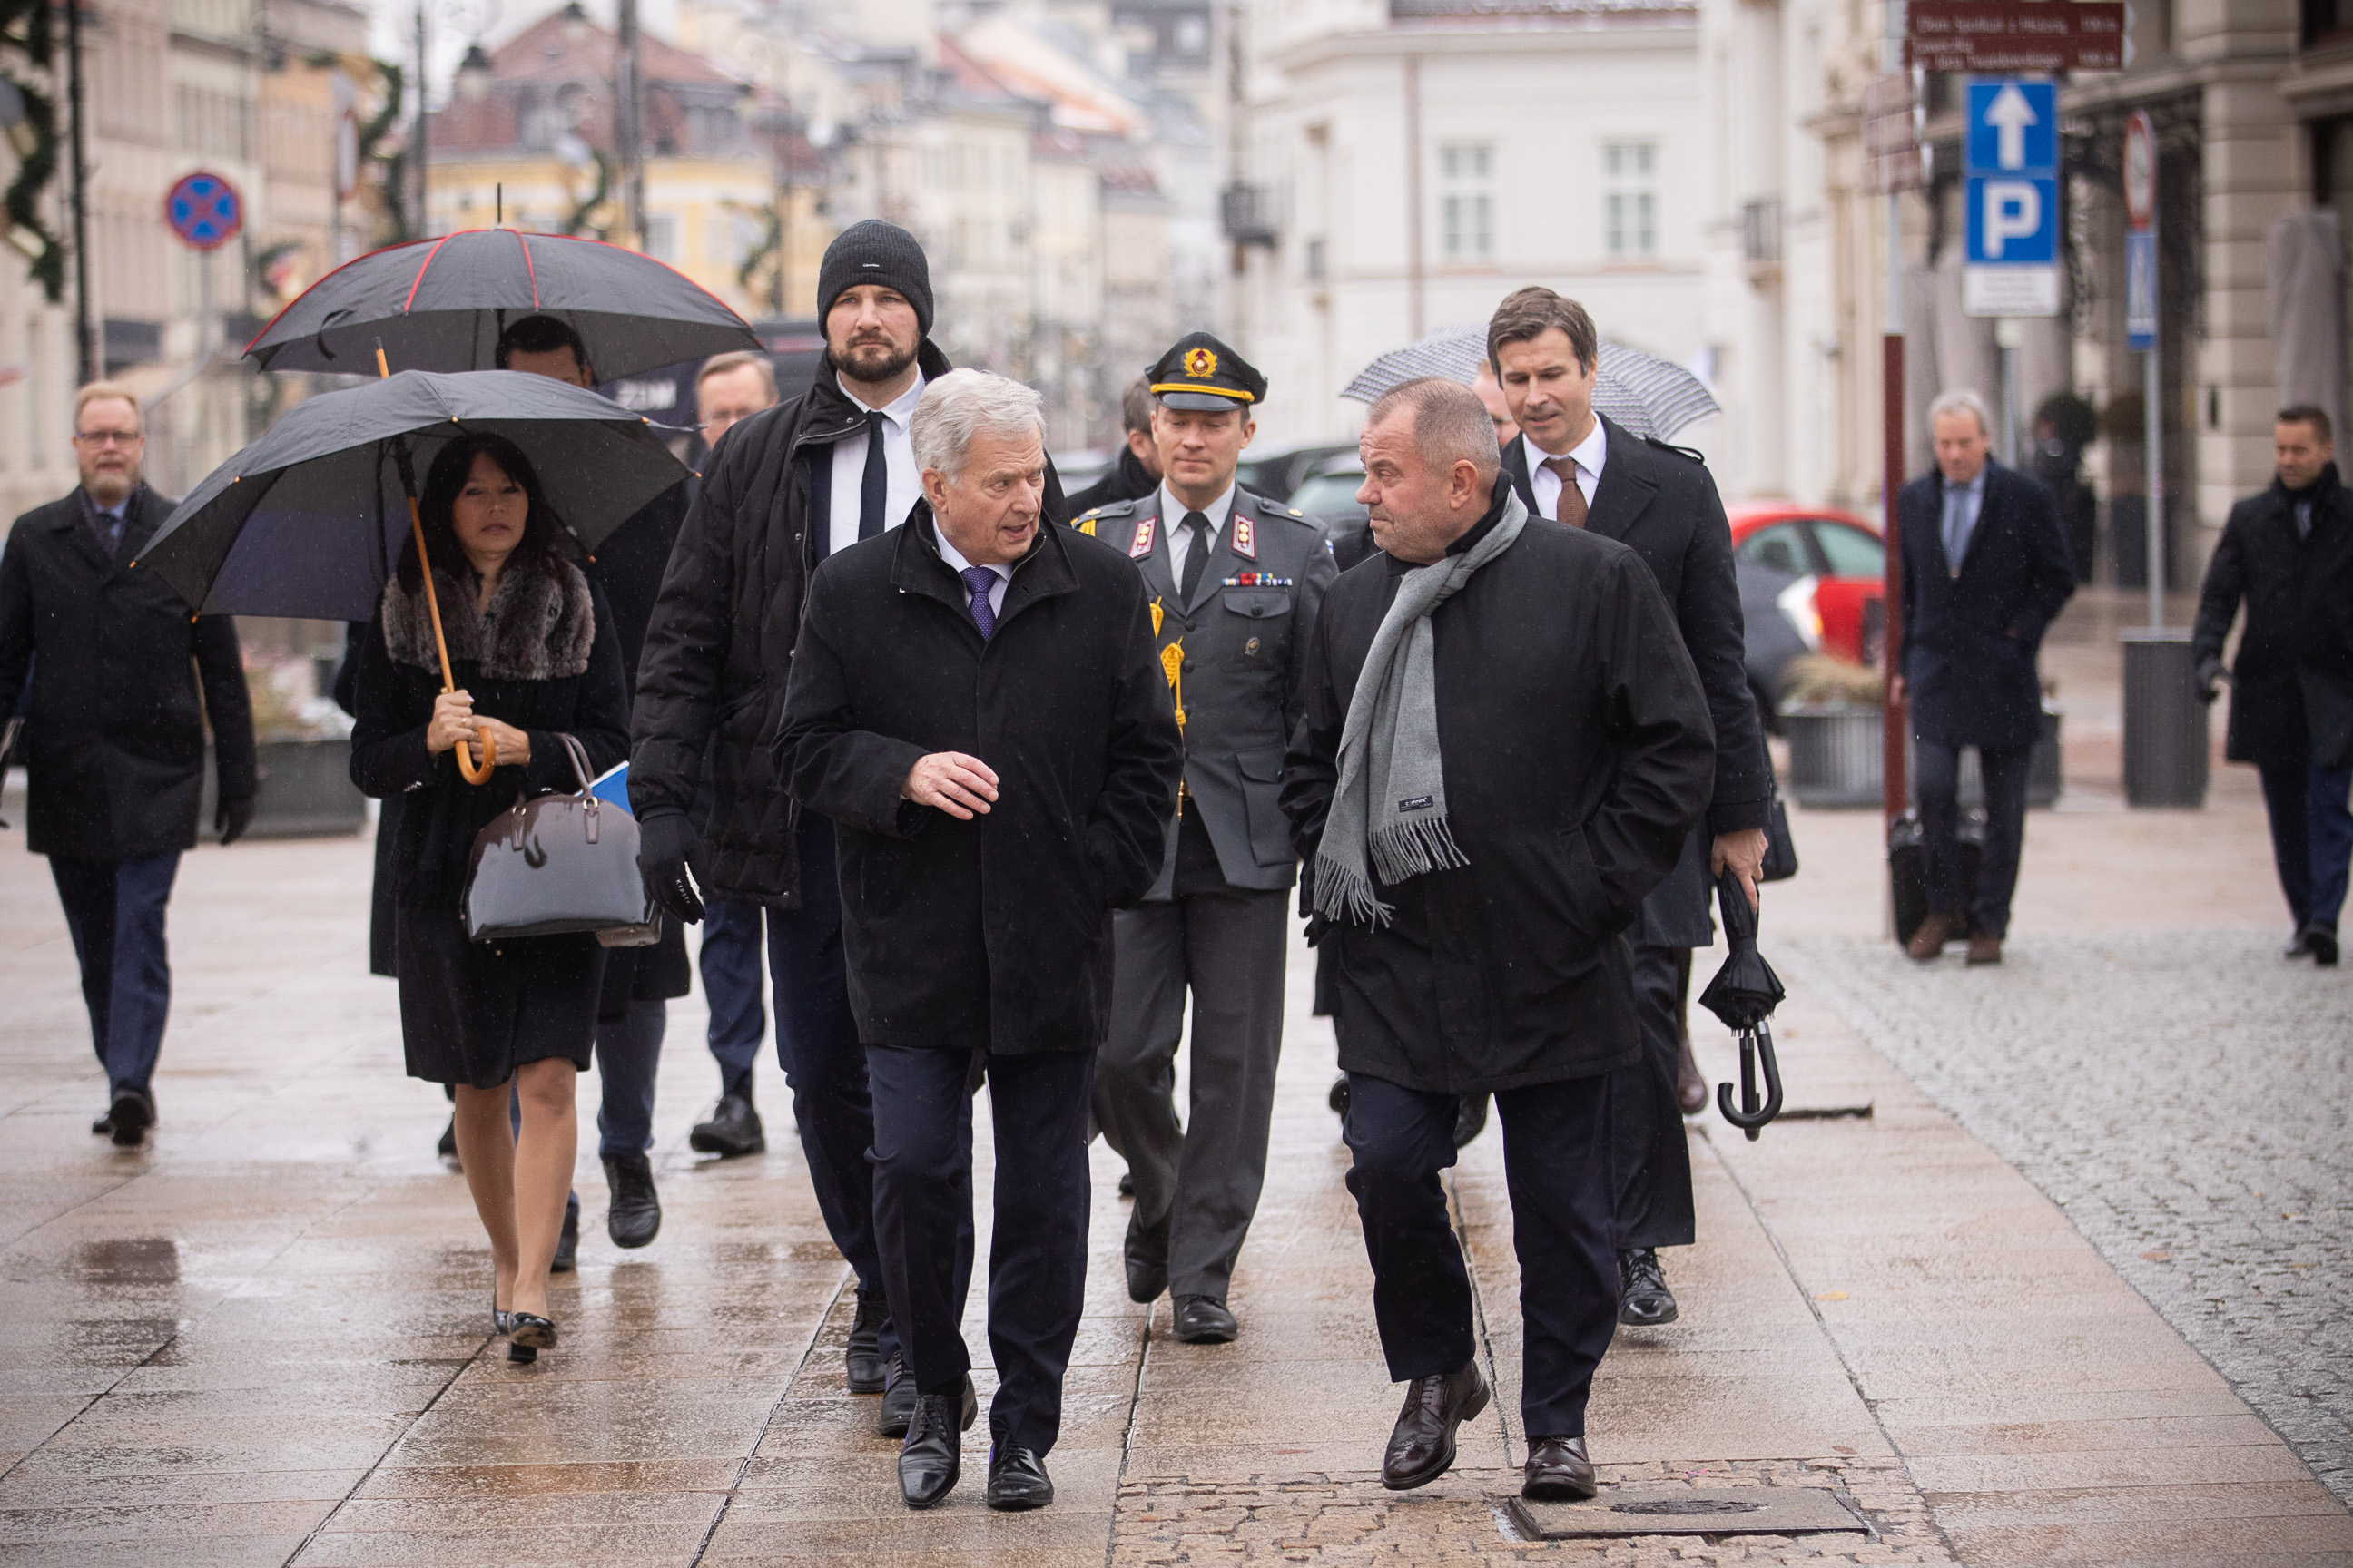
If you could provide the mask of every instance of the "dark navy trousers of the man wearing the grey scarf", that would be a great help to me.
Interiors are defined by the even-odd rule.
[[[1447,1093],[1348,1074],[1348,1192],[1372,1258],[1372,1316],[1395,1382],[1461,1371],[1475,1349],[1471,1274],[1438,1173],[1454,1164]],[[1520,1418],[1584,1436],[1593,1368],[1617,1331],[1609,1079],[1504,1088],[1504,1182],[1520,1255]]]

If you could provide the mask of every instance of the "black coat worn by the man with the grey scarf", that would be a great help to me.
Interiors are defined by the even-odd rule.
[[[1308,860],[1405,571],[1372,555],[1325,595],[1282,785]],[[1708,698],[1675,618],[1633,550],[1529,517],[1431,630],[1447,825],[1468,865],[1381,886],[1395,907],[1381,929],[1322,936],[1339,943],[1339,1065],[1433,1093],[1624,1067],[1642,1053],[1624,931],[1715,778]]]

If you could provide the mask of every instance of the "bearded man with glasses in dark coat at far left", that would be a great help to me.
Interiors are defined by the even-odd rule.
[[[207,724],[221,844],[254,820],[256,783],[235,623],[191,616],[162,578],[132,571],[176,505],[141,480],[144,458],[132,390],[85,386],[80,487],[19,517],[0,548],[0,712],[26,715],[26,849],[49,856],[106,1067],[106,1114],[89,1131],[122,1147],[155,1124],[172,1013],[165,905],[195,849]]]

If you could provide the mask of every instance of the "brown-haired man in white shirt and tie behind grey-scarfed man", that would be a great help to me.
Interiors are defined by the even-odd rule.
[[[1520,440],[1504,473],[1520,503],[1642,557],[1675,614],[1715,724],[1715,788],[1704,832],[1692,832],[1675,870],[1642,900],[1633,940],[1642,1060],[1609,1084],[1619,1182],[1619,1321],[1673,1324],[1675,1293],[1661,1246],[1692,1246],[1692,1152],[1682,1131],[1682,976],[1689,950],[1715,940],[1708,900],[1715,872],[1732,870],[1755,900],[1772,820],[1765,726],[1748,696],[1741,592],[1732,576],[1732,527],[1715,480],[1692,454],[1635,440],[1593,411],[1600,336],[1584,306],[1551,289],[1520,289],[1487,322],[1487,355]]]

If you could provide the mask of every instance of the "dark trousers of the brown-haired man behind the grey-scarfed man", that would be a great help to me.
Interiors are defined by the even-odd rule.
[[[1642,1060],[1609,1074],[1609,1147],[1617,1244],[1692,1246],[1692,1145],[1682,1133],[1682,947],[1633,945],[1633,1013]]]

